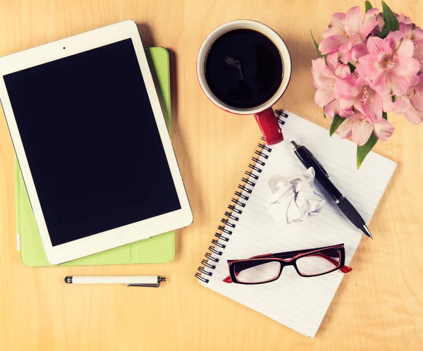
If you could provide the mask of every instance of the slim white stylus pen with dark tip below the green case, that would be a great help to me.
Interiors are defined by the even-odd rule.
[[[161,276],[67,276],[68,284],[125,284],[126,286],[149,286],[159,288],[166,281]]]

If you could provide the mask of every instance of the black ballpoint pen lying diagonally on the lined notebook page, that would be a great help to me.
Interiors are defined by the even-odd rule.
[[[358,211],[353,207],[353,205],[342,195],[342,193],[336,188],[335,185],[329,180],[329,174],[326,172],[324,167],[321,165],[319,160],[312,154],[309,149],[305,146],[300,146],[296,142],[292,141],[290,144],[294,148],[295,155],[305,166],[305,168],[314,168],[316,173],[316,180],[320,183],[322,187],[331,195],[336,205],[343,211],[343,214],[353,223],[357,228],[362,230],[362,232],[367,235],[369,238],[372,238],[369,228],[366,226],[366,222]]]

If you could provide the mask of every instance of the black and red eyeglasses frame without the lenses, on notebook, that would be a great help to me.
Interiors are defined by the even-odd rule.
[[[331,264],[333,264],[333,269],[326,271],[324,273],[314,274],[314,275],[307,275],[301,273],[300,269],[298,269],[297,261],[302,257],[312,257],[318,256],[323,259],[326,259]],[[339,261],[336,261],[334,257],[339,257]],[[260,282],[251,282],[246,283],[243,281],[238,281],[238,275],[241,271],[245,269],[250,269],[255,266],[259,266],[261,264],[266,264],[269,262],[277,261],[281,266],[274,278],[268,279],[266,281]],[[345,247],[343,244],[326,246],[326,247],[319,247],[317,249],[307,249],[307,250],[298,250],[298,251],[290,251],[290,252],[279,252],[277,254],[262,254],[259,256],[251,257],[250,259],[234,259],[228,260],[228,269],[229,269],[229,276],[223,279],[225,283],[237,283],[237,284],[263,284],[263,283],[270,283],[271,281],[276,281],[283,271],[283,267],[285,266],[294,266],[295,271],[302,276],[302,277],[314,277],[314,276],[323,276],[324,274],[331,273],[333,271],[340,270],[342,273],[348,273],[353,269],[349,266],[345,266]]]

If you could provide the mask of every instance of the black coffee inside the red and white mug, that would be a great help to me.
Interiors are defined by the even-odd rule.
[[[255,30],[232,30],[216,39],[205,66],[207,85],[223,103],[238,109],[264,104],[277,92],[283,76],[281,54]]]

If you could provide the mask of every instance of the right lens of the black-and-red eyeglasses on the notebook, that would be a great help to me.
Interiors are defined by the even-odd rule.
[[[331,249],[300,257],[297,268],[303,276],[318,276],[339,268],[340,262],[341,251]]]

